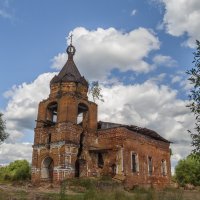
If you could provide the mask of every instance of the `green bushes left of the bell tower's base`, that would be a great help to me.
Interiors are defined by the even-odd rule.
[[[26,160],[16,160],[8,166],[0,168],[0,180],[19,181],[29,180],[30,177],[30,165]]]

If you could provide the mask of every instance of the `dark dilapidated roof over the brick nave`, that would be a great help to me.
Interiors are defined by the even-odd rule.
[[[167,142],[170,143],[170,141],[166,140],[165,138],[163,138],[162,136],[160,136],[157,132],[148,129],[148,128],[142,128],[142,127],[138,127],[138,126],[134,126],[134,125],[124,125],[124,124],[117,124],[117,123],[111,123],[111,122],[98,122],[98,128],[99,130],[102,129],[113,129],[113,128],[118,128],[118,127],[124,127],[130,131],[139,133],[141,135],[144,135],[146,137],[150,137],[153,138],[155,140],[159,140],[159,141],[163,141],[163,142]]]

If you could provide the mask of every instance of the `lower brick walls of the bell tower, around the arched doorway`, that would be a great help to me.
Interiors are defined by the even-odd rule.
[[[50,157],[53,162],[53,182],[75,176],[75,162],[80,147],[82,128],[72,123],[60,123],[53,127],[35,129],[35,144],[32,156],[32,182],[41,178],[42,162]],[[51,141],[48,141],[48,134]]]

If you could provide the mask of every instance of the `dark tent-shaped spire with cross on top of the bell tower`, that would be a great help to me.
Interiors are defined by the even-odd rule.
[[[50,82],[50,85],[53,83],[61,82],[76,82],[81,83],[88,87],[88,82],[83,76],[81,76],[78,68],[76,67],[73,56],[75,55],[76,49],[72,45],[72,34],[70,35],[70,45],[67,47],[66,52],[68,54],[68,60],[63,66],[62,70],[57,76],[54,76]]]

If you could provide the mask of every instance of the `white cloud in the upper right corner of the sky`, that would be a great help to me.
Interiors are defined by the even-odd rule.
[[[186,34],[185,45],[194,47],[200,40],[200,1],[199,0],[157,0],[165,6],[163,25],[173,36]]]

